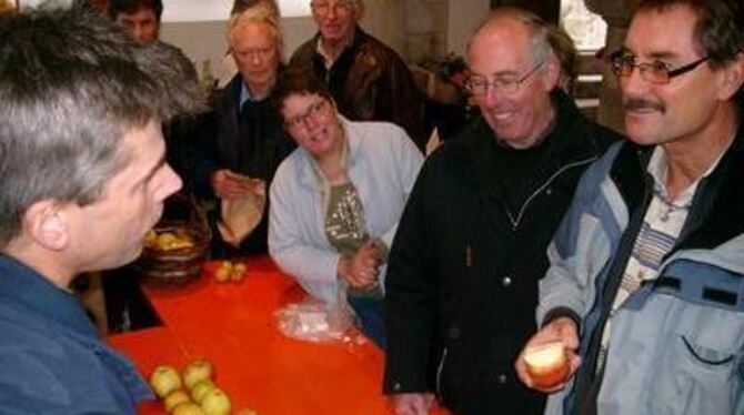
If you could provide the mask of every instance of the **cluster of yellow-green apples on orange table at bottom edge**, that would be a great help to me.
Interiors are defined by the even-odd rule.
[[[214,382],[214,365],[208,360],[191,361],[181,373],[170,365],[155,367],[150,386],[165,411],[175,415],[229,415],[232,402]],[[258,413],[243,409],[241,414]]]

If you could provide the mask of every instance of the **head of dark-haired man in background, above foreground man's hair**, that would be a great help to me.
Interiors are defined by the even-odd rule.
[[[160,36],[161,0],[110,0],[109,18],[140,42],[153,42]]]

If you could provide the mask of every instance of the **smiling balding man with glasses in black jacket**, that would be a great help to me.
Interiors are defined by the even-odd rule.
[[[557,88],[549,27],[496,9],[466,51],[481,110],[425,162],[385,283],[384,391],[398,414],[542,414],[513,361],[536,330],[537,281],[582,172],[615,139]]]

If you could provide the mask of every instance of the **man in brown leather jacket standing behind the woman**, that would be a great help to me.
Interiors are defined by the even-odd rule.
[[[363,31],[362,0],[312,0],[318,34],[292,55],[290,65],[311,69],[350,120],[390,121],[424,151],[424,97],[394,50]]]

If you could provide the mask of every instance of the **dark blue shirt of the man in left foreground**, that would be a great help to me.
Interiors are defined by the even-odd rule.
[[[0,255],[0,414],[134,414],[152,398],[73,294]]]

